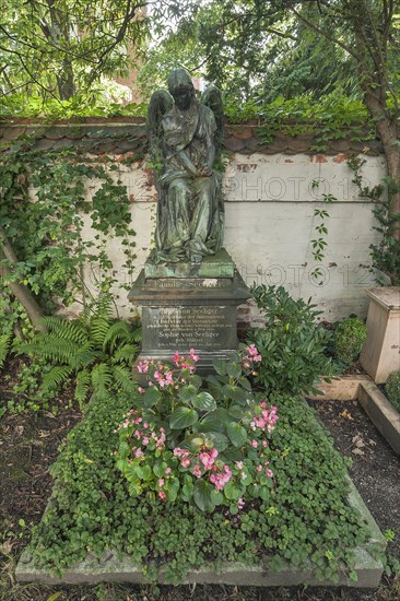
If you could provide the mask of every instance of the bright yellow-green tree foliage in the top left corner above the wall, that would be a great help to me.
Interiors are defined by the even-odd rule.
[[[145,2],[144,2],[145,5]],[[127,74],[127,46],[140,46],[148,20],[143,3],[123,0],[26,2],[4,0],[0,32],[3,96],[93,103],[106,76]],[[115,92],[110,90],[110,92]]]

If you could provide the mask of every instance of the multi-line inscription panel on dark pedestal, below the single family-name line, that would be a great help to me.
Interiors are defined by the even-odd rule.
[[[149,313],[148,313],[149,311]],[[190,306],[143,309],[148,343],[160,350],[214,351],[236,342],[236,311],[232,307]]]

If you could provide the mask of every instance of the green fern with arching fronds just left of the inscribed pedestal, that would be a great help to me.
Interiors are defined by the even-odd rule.
[[[45,317],[46,332],[19,344],[16,352],[45,358],[51,366],[43,374],[38,393],[55,394],[74,378],[74,398],[82,408],[94,392],[131,392],[131,364],[139,351],[140,329],[111,317],[110,300],[99,299],[94,313],[79,319]]]

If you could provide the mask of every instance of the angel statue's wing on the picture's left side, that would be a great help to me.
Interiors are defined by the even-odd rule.
[[[146,119],[149,152],[157,175],[161,174],[163,167],[163,132],[161,122],[164,115],[173,108],[173,97],[166,90],[156,90],[153,92],[149,103]]]

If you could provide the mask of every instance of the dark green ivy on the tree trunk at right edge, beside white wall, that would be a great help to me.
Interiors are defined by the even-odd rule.
[[[352,156],[348,161],[349,167],[354,172],[353,182],[357,186],[360,196],[368,198],[374,202],[373,213],[377,225],[374,229],[379,233],[380,241],[372,244],[370,257],[374,268],[378,270],[377,282],[385,284],[386,282],[379,275],[379,272],[385,273],[391,280],[391,285],[400,285],[400,243],[396,237],[399,228],[400,214],[392,212],[392,203],[395,195],[399,193],[400,185],[390,177],[385,177],[385,185],[369,188],[363,185],[362,167],[365,160],[360,156]]]

